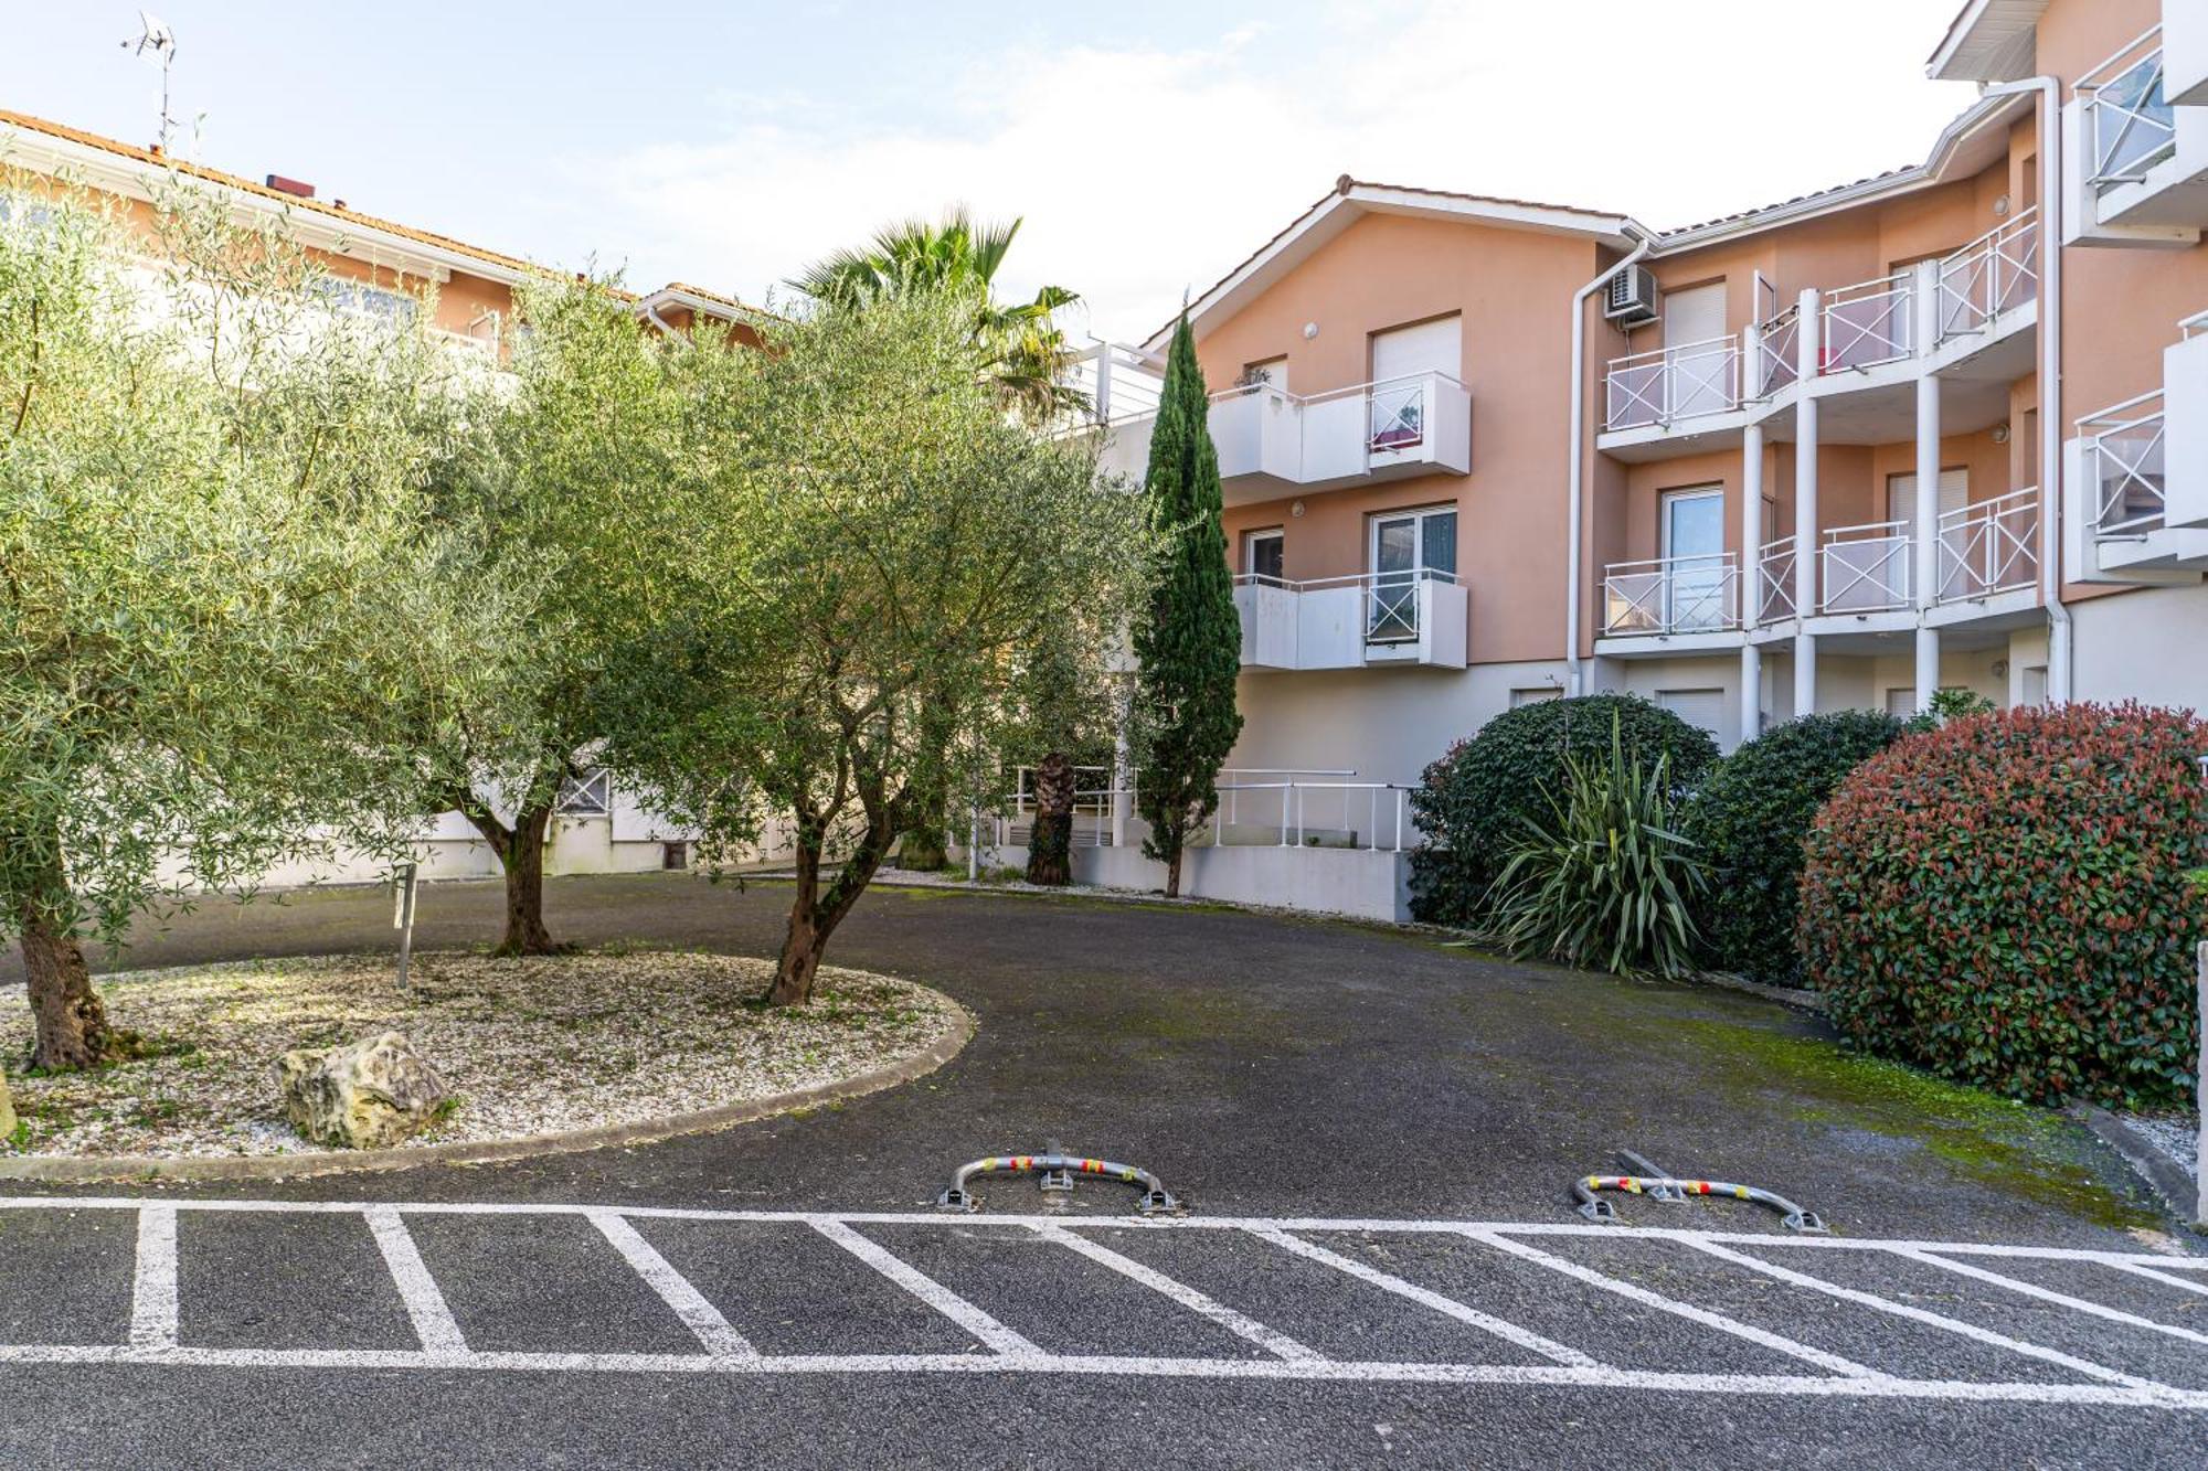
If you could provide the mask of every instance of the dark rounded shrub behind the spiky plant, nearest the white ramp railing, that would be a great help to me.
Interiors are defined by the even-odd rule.
[[[1718,764],[1707,731],[1641,696],[1579,696],[1504,711],[1426,766],[1411,793],[1411,815],[1426,833],[1426,846],[1411,855],[1411,912],[1429,923],[1475,923],[1521,819],[1548,815],[1541,791],[1563,791],[1568,755],[1607,758],[1612,724],[1643,771],[1669,758],[1671,795]]]

